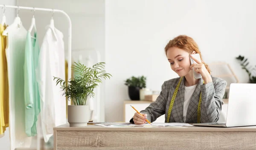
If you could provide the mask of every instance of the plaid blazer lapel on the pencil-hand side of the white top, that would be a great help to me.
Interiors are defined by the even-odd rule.
[[[183,76],[183,79],[181,80],[180,87],[175,98],[175,102],[172,107],[172,116],[175,122],[183,122],[184,80],[185,77]],[[175,88],[176,86],[177,84],[175,85]]]

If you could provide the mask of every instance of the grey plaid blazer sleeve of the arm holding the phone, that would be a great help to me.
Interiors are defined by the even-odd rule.
[[[227,82],[220,78],[214,82],[201,85],[201,123],[217,122],[219,120],[226,86]]]

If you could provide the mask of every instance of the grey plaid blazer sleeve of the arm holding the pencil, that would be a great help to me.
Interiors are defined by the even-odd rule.
[[[167,100],[167,94],[168,91],[166,91],[166,82],[162,85],[162,90],[157,97],[155,102],[152,102],[145,110],[140,111],[140,113],[146,113],[147,119],[149,122],[154,122],[158,117],[165,114],[165,108],[166,108],[166,100]],[[134,123],[133,118],[131,118],[130,123]]]

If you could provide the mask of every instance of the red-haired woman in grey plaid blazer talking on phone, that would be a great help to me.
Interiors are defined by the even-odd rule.
[[[217,122],[227,82],[210,75],[209,67],[191,37],[180,35],[170,40],[165,53],[172,70],[180,77],[165,81],[156,101],[140,112],[143,116],[135,113],[130,122],[137,125],[145,124],[145,119],[154,122],[163,114],[165,122]],[[201,62],[190,54],[200,54]],[[191,65],[189,57],[197,63]],[[201,74],[201,79],[194,78],[192,68]]]

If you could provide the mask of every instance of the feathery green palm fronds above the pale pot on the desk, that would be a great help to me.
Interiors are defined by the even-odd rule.
[[[60,84],[64,96],[68,100],[72,100],[74,105],[85,105],[88,98],[93,97],[94,88],[99,83],[102,83],[102,79],[110,79],[111,74],[104,71],[105,62],[99,62],[93,65],[92,68],[88,68],[81,63],[76,63],[72,66],[74,71],[74,79],[70,79],[66,85],[66,81],[61,78],[54,77],[56,79],[56,85]]]

